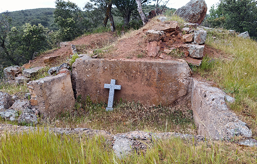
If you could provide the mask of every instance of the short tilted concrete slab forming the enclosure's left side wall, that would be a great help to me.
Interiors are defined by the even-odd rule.
[[[27,86],[31,105],[37,105],[43,116],[53,118],[74,108],[75,99],[68,70],[56,76],[30,81]]]

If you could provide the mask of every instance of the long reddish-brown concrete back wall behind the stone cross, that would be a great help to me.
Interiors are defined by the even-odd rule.
[[[115,100],[140,101],[150,105],[170,105],[183,99],[189,87],[190,68],[185,60],[107,60],[80,58],[72,65],[72,80],[76,95],[90,96],[94,102],[108,102],[111,79],[121,90]]]

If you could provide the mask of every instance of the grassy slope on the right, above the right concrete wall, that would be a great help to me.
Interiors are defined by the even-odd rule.
[[[204,58],[199,72],[209,74],[219,87],[235,97],[232,110],[247,122],[257,135],[257,43],[228,32],[208,31],[206,45],[222,50],[225,58]],[[210,61],[208,63],[208,61]],[[207,73],[206,73],[206,72]],[[204,73],[205,72],[205,73]]]

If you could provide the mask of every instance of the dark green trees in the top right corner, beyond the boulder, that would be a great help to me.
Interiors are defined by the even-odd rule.
[[[255,0],[221,0],[216,8],[212,6],[210,9],[207,24],[237,32],[248,31],[250,36],[257,37],[256,5]]]

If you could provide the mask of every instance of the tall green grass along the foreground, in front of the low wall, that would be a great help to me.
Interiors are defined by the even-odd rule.
[[[3,135],[1,163],[257,163],[257,148],[221,141],[195,142],[171,138],[153,141],[146,151],[134,151],[123,159],[111,142],[97,136],[68,136],[35,131]]]

